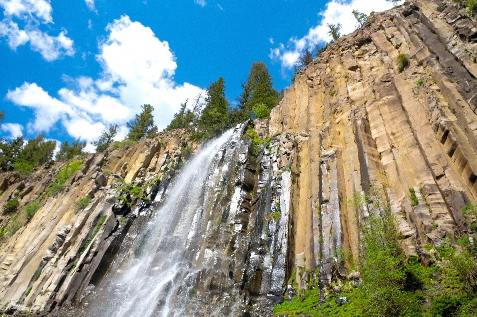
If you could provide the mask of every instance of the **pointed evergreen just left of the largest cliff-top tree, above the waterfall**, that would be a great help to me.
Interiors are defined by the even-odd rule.
[[[228,101],[225,97],[224,79],[220,77],[217,82],[211,82],[207,87],[206,106],[198,121],[199,130],[208,135],[218,135],[228,126]]]

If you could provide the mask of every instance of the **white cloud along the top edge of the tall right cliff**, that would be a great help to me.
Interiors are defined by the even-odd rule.
[[[402,4],[404,0],[397,1]],[[324,45],[332,38],[328,35],[327,24],[342,25],[341,34],[345,35],[356,30],[356,20],[354,19],[353,10],[369,15],[370,12],[388,10],[393,7],[393,3],[386,0],[331,0],[326,4],[325,10],[318,13],[321,17],[320,22],[311,27],[308,33],[301,37],[292,37],[287,45],[279,43],[278,47],[270,49],[270,59],[279,61],[284,68],[293,68],[296,65],[301,52],[308,47],[316,45]]]

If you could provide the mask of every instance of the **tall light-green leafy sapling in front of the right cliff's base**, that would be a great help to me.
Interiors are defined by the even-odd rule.
[[[361,307],[366,316],[419,316],[419,301],[406,288],[407,260],[399,244],[397,224],[382,197],[381,190],[372,188],[363,196],[355,193],[350,201],[362,234]],[[364,204],[372,206],[369,216],[364,213]]]

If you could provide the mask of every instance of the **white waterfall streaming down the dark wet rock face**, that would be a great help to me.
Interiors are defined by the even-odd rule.
[[[97,298],[90,304],[88,316],[206,315],[204,307],[191,310],[196,305],[191,305],[191,298],[201,271],[212,266],[217,256],[202,246],[207,230],[215,225],[207,213],[218,199],[216,186],[230,173],[228,164],[240,142],[241,129],[229,130],[204,145],[161,202],[140,211],[137,220],[142,217],[146,223],[140,229],[131,228],[110,272],[95,291]]]

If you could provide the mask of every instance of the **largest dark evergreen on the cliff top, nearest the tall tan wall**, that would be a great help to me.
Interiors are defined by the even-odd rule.
[[[271,109],[280,102],[280,93],[273,89],[272,80],[263,61],[252,63],[247,82],[242,83],[243,92],[237,99],[242,121],[251,117],[255,105],[263,103]]]

